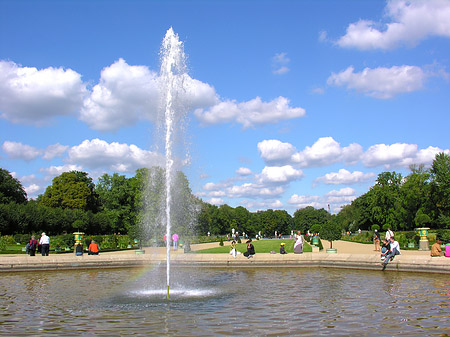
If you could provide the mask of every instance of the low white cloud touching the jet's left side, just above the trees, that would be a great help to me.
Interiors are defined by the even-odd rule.
[[[118,172],[134,172],[138,168],[164,166],[164,158],[136,145],[107,143],[104,140],[84,140],[69,149],[69,162],[91,169],[103,168]]]

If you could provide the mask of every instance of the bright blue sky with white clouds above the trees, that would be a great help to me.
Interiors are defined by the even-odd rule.
[[[0,167],[31,198],[161,162],[159,51],[192,79],[193,193],[338,212],[383,171],[449,152],[450,1],[0,0]]]

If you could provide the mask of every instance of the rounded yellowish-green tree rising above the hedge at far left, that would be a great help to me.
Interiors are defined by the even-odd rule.
[[[49,207],[98,210],[98,196],[95,185],[86,172],[64,172],[52,181],[40,202]]]

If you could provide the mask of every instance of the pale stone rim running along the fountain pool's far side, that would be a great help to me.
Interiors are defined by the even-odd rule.
[[[98,256],[72,254],[50,256],[3,255],[0,256],[0,272],[70,270],[98,268],[126,268],[147,265],[165,265],[166,255],[146,254],[100,254]],[[321,267],[381,270],[379,255],[367,254],[256,254],[247,259],[242,255],[233,258],[229,254],[171,254],[172,266],[202,267]],[[391,261],[386,270],[450,274],[450,258],[425,255],[401,255]]]

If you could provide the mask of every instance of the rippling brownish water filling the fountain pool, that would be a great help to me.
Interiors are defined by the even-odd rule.
[[[320,268],[7,273],[0,335],[431,336],[450,333],[448,275]]]

